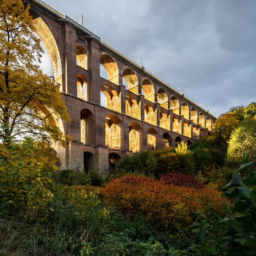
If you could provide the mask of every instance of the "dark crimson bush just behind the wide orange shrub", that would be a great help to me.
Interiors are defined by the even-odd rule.
[[[205,185],[195,177],[184,173],[168,173],[163,175],[160,181],[165,185],[186,186],[188,188],[202,189]]]

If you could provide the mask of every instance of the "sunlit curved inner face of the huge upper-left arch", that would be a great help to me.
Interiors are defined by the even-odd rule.
[[[52,67],[54,69],[54,78],[57,83],[62,85],[62,60],[60,51],[58,50],[57,42],[52,34],[49,26],[42,20],[41,17],[35,17],[33,19],[34,31],[39,36],[40,40],[44,42],[44,45],[49,53]],[[63,90],[63,87],[60,88]]]

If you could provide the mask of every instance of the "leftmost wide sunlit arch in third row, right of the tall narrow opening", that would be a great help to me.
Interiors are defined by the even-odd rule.
[[[121,147],[121,120],[116,115],[108,115],[105,119],[106,147],[120,150]]]

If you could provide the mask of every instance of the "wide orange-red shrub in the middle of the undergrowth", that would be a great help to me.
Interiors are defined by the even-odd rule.
[[[221,192],[214,189],[195,189],[173,184],[165,185],[136,175],[112,180],[101,189],[105,204],[124,215],[140,214],[159,226],[174,227],[193,223],[197,212],[223,214]],[[175,225],[174,225],[175,223]]]

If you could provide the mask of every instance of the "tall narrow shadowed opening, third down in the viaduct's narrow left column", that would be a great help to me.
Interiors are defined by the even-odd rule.
[[[81,111],[81,142],[87,145],[94,143],[93,113],[89,109]]]

